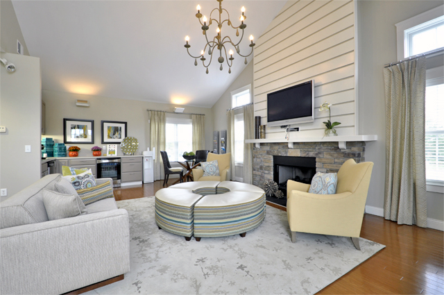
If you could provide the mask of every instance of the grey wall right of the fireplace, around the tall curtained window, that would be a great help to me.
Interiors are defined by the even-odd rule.
[[[358,1],[359,121],[368,142],[366,160],[375,162],[367,205],[384,207],[385,98],[384,65],[395,62],[395,24],[443,4],[443,1]],[[427,216],[444,219],[443,194],[427,192]]]

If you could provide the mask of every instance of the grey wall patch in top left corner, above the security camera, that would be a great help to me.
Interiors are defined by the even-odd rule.
[[[17,53],[17,40],[24,47],[24,55],[29,56],[28,47],[17,21],[14,7],[10,0],[0,1],[0,47],[8,53]]]

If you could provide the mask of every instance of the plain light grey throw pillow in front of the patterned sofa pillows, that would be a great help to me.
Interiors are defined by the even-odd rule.
[[[81,215],[75,194],[60,194],[43,189],[43,203],[49,220],[63,219]]]

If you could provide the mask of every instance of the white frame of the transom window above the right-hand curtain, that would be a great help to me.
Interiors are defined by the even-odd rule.
[[[405,33],[404,31],[413,28],[414,26],[419,26],[420,24],[424,24],[426,22],[430,22],[432,19],[436,19],[437,17],[443,16],[444,5],[438,6],[426,12],[422,12],[420,15],[416,15],[409,19],[406,19],[402,22],[398,22],[395,24],[396,26],[396,43],[397,43],[397,59],[403,60],[404,58],[409,58],[409,56],[404,56],[404,53],[407,52],[408,42],[404,40]],[[438,49],[434,49],[438,50]],[[422,53],[420,53],[422,54]],[[442,53],[438,53],[442,54]]]

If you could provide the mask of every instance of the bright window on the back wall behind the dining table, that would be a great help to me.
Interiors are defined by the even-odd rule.
[[[185,161],[183,153],[192,151],[193,146],[191,119],[167,117],[165,142],[170,162]]]

